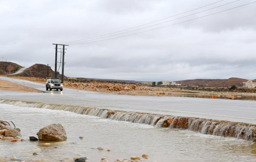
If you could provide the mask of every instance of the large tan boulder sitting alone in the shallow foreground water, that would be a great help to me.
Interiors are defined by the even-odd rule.
[[[41,128],[38,133],[39,140],[43,141],[64,141],[67,140],[66,131],[61,124],[49,124]]]

